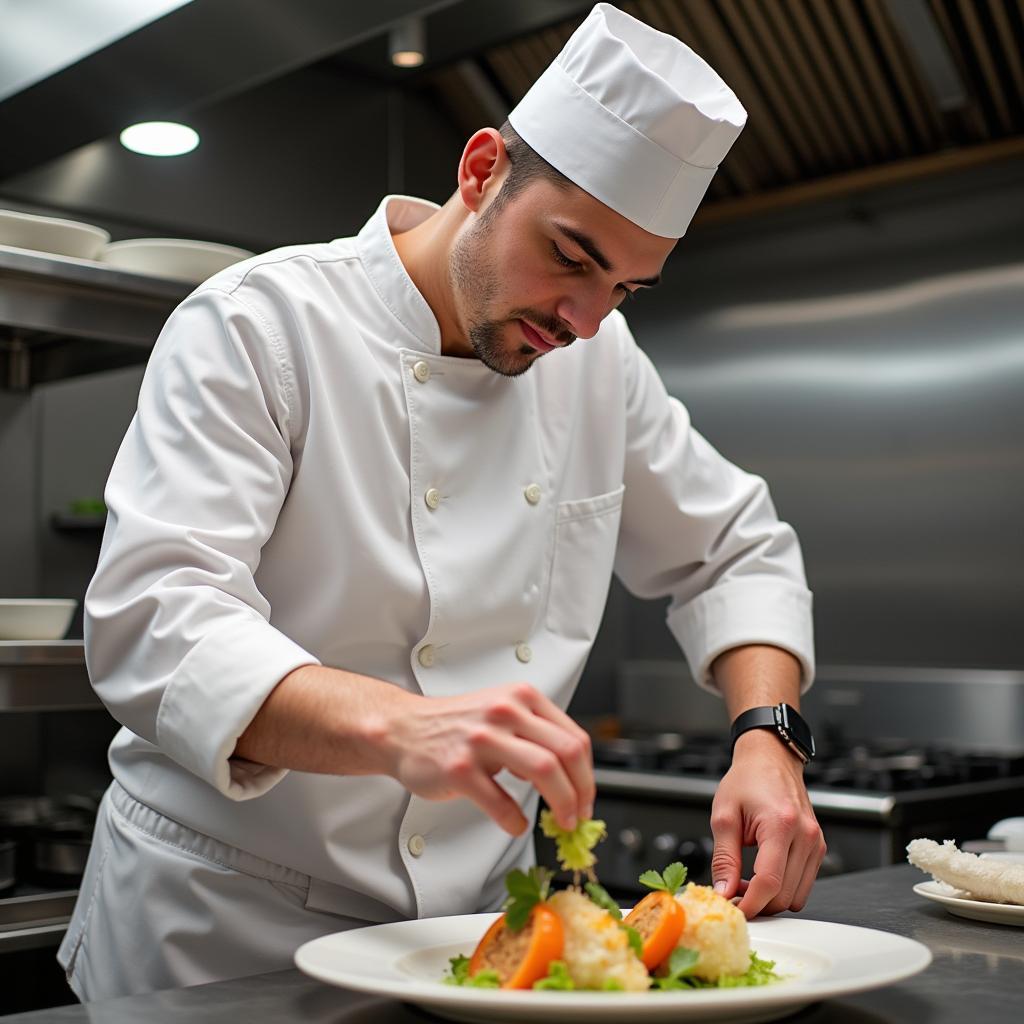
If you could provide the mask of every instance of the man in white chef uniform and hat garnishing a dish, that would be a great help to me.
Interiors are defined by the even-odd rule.
[[[356,237],[246,260],[174,310],[85,602],[123,728],[58,954],[82,999],[500,906],[539,796],[565,827],[593,812],[565,709],[612,571],[670,599],[730,720],[798,705],[794,531],[618,311],[744,120],[685,45],[598,4],[469,139],[443,206],[389,196]],[[748,915],[804,904],[824,845],[778,731],[738,735],[712,826]]]

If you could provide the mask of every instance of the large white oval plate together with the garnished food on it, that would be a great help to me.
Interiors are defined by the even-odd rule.
[[[892,984],[931,963],[927,946],[874,929],[796,918],[748,925],[713,890],[686,885],[680,863],[645,871],[650,892],[624,918],[593,871],[604,825],[564,833],[550,814],[543,825],[573,872],[560,892],[547,872],[513,871],[503,913],[324,935],[296,950],[296,966],[464,1024],[750,1024]],[[746,968],[733,973],[742,955]]]

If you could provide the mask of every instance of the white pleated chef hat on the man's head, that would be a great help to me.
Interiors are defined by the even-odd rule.
[[[595,199],[678,239],[746,111],[684,43],[599,3],[509,122]]]

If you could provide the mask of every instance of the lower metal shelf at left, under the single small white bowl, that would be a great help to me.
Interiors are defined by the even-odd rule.
[[[0,640],[0,712],[102,707],[82,640]]]

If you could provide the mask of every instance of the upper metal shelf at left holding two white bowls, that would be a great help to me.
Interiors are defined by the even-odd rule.
[[[0,246],[0,389],[134,366],[148,358],[186,282],[92,260]]]

